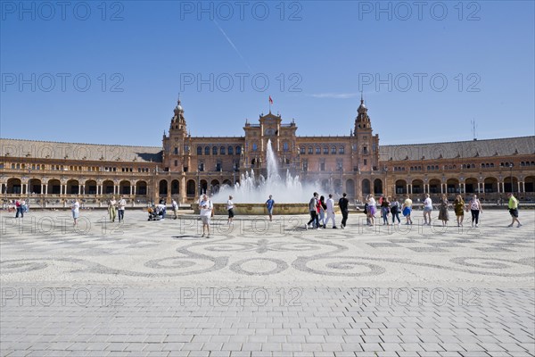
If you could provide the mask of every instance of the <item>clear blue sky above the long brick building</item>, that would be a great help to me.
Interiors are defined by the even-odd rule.
[[[158,146],[179,92],[193,136],[242,136],[268,95],[300,136],[349,135],[360,90],[383,145],[470,140],[473,119],[535,133],[532,1],[20,4],[2,2],[2,137]]]

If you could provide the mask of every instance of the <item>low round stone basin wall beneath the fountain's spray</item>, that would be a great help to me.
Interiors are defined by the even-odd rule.
[[[200,209],[197,204],[193,204],[193,212],[199,214]],[[226,215],[226,203],[214,203],[214,213]],[[268,215],[268,209],[264,203],[238,203],[235,204],[234,212],[236,215]],[[339,207],[334,207],[334,212],[340,213]],[[275,203],[273,215],[288,214],[309,214],[309,203]]]

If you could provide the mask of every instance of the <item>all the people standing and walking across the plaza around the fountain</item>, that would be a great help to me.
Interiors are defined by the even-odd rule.
[[[314,192],[309,201],[309,215],[310,220],[305,224],[304,228],[327,228],[329,222],[332,224],[333,229],[337,229],[336,226],[336,214],[335,214],[335,203],[333,199],[333,194],[327,195],[328,198],[325,198],[324,195],[319,195],[317,192]],[[518,220],[518,200],[514,197],[513,194],[508,193],[508,211],[511,216],[511,224],[507,227],[511,228],[516,223],[516,227],[522,227],[520,220]],[[273,220],[273,212],[275,207],[275,200],[273,195],[269,195],[268,200],[266,201],[266,210],[268,212],[268,218],[270,221]],[[344,229],[347,225],[348,215],[349,215],[349,205],[350,202],[347,198],[347,194],[343,193],[342,197],[338,200],[338,207],[342,213],[342,221],[340,228]],[[115,197],[111,197],[108,201],[108,213],[110,215],[111,222],[115,222],[116,219],[119,219],[119,222],[124,220],[125,217],[125,208],[127,206],[127,201],[123,196],[119,197],[119,201]],[[178,216],[178,203],[175,199],[172,200],[171,207],[174,213],[173,218],[176,220]],[[74,220],[74,226],[77,225],[80,203],[78,199],[72,201],[71,205],[72,218]],[[235,218],[235,203],[233,202],[233,196],[229,195],[228,200],[226,201],[226,211],[228,213],[227,224],[234,224]],[[463,227],[463,222],[465,220],[465,212],[470,213],[472,219],[472,227],[479,227],[481,222],[482,215],[482,205],[477,195],[473,194],[470,196],[468,202],[465,202],[462,195],[457,195],[455,200],[450,203],[447,195],[441,195],[438,202],[438,220],[441,221],[442,226],[447,226],[449,222],[449,210],[450,208],[455,213],[457,219],[457,227]],[[10,204],[10,212],[16,210],[15,218],[24,217],[24,213],[28,212],[29,206],[24,200],[14,200]],[[164,220],[166,216],[167,205],[165,201],[161,200],[157,205],[151,204],[148,208],[149,220]],[[432,211],[433,203],[429,194],[425,194],[423,201],[423,212],[424,212],[424,225],[432,225]],[[200,220],[202,220],[202,237],[210,237],[210,219],[214,216],[214,205],[210,201],[208,195],[204,194],[199,199],[199,210],[200,210]],[[364,203],[364,213],[366,214],[366,225],[374,226],[375,225],[375,215],[377,212],[380,213],[381,219],[383,220],[383,225],[399,225],[401,220],[399,214],[402,214],[405,218],[406,225],[413,224],[413,201],[410,198],[410,195],[405,195],[404,199],[399,199],[397,196],[384,196],[381,195],[378,201],[375,201],[374,195],[367,195],[366,201]]]

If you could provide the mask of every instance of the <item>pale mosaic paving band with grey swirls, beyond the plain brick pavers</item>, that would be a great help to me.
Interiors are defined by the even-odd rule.
[[[262,234],[251,235],[243,225],[237,229],[226,227],[225,235],[217,233],[224,229],[212,229],[212,236],[205,238],[198,226],[188,224],[189,228],[181,228],[179,234],[173,221],[138,221],[134,231],[108,236],[98,234],[100,225],[87,235],[10,236],[8,232],[0,241],[0,268],[4,278],[39,270],[103,278],[208,276],[216,271],[232,278],[281,273],[356,278],[395,276],[401,269],[431,269],[443,276],[465,273],[474,277],[530,278],[535,266],[529,228],[502,228],[502,234],[488,236],[458,234],[454,229],[450,235],[413,232],[409,237],[388,231],[377,235],[358,226],[310,231],[296,227],[294,234],[281,234],[280,227],[270,227]],[[146,232],[154,227],[163,229],[147,237]],[[287,227],[282,231],[287,232]],[[109,254],[117,256],[118,262],[121,258],[135,259],[119,264],[107,259]]]

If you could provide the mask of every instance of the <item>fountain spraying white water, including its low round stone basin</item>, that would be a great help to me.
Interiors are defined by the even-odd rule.
[[[226,214],[226,200],[233,196],[238,214],[267,214],[266,201],[269,195],[275,200],[274,214],[301,214],[309,212],[309,199],[319,186],[302,183],[299,176],[292,177],[286,170],[281,177],[271,139],[266,152],[267,175],[256,177],[254,170],[241,175],[234,187],[224,185],[211,200],[217,214]]]

